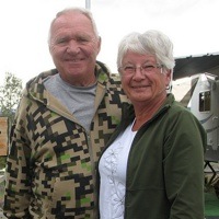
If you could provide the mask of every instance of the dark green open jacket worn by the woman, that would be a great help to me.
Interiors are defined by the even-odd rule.
[[[124,112],[107,146],[134,117],[132,108]],[[203,126],[169,94],[131,145],[124,218],[204,219],[205,147]]]

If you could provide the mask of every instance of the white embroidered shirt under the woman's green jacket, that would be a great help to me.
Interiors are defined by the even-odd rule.
[[[100,214],[101,219],[123,219],[126,191],[128,154],[137,131],[132,125],[120,134],[103,153],[99,171],[101,174]]]

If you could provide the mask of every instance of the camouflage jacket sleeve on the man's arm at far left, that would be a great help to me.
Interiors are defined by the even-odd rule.
[[[10,134],[3,205],[3,214],[7,218],[30,218],[31,142],[26,136],[26,111],[23,107],[25,104],[21,101]]]

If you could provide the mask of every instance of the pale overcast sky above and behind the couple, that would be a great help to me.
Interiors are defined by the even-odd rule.
[[[116,71],[119,41],[126,34],[157,28],[174,43],[174,56],[219,51],[219,0],[90,0],[102,50],[99,60]],[[0,0],[0,73],[25,83],[54,68],[47,46],[51,19],[85,0]]]

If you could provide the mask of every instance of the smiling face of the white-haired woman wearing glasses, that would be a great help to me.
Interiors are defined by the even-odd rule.
[[[123,89],[135,103],[155,103],[166,96],[171,72],[157,64],[155,57],[128,51],[123,58]]]

